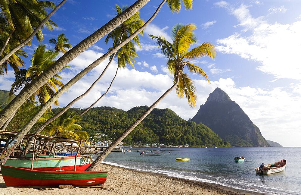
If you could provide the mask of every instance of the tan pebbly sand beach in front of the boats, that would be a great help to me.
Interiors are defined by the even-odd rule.
[[[0,177],[0,194],[254,194],[216,184],[167,177],[159,174],[101,164],[109,171],[103,188],[15,188]]]

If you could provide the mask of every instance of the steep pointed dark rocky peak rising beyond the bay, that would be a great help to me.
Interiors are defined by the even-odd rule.
[[[270,146],[259,128],[220,88],[210,93],[191,121],[205,124],[232,146]]]

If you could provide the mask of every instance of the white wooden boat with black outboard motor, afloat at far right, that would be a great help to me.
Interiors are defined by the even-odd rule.
[[[277,173],[280,171],[283,171],[286,167],[286,159],[281,159],[280,161],[270,163],[268,165],[265,165],[262,163],[260,167],[255,168],[256,173],[259,174],[271,174],[271,173]]]

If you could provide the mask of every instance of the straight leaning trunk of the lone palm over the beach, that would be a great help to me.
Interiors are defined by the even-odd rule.
[[[107,149],[105,149],[100,156],[93,161],[93,163],[85,170],[85,171],[95,171],[98,169],[98,165],[100,165],[101,161],[103,161],[108,154],[156,107],[156,105],[169,94],[179,83],[179,77],[175,84],[170,87],[153,105],[151,105],[142,115],[138,118],[129,128],[126,129],[115,141],[113,141]]]

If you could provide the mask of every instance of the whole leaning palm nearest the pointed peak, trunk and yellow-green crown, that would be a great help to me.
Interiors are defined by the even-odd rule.
[[[196,29],[194,24],[182,25],[178,24],[172,28],[173,42],[168,42],[163,36],[150,35],[151,39],[157,40],[157,45],[161,49],[161,53],[168,58],[167,67],[171,74],[173,74],[174,84],[159,98],[153,105],[151,105],[140,118],[138,118],[129,128],[126,129],[115,141],[113,141],[107,149],[90,165],[86,171],[97,169],[98,163],[117,146],[154,108],[155,106],[174,88],[176,88],[178,97],[182,98],[184,95],[188,99],[191,107],[196,105],[197,96],[195,94],[196,88],[193,81],[188,77],[187,73],[183,73],[184,68],[187,68],[194,74],[200,74],[208,80],[206,73],[197,65],[194,65],[190,60],[208,56],[215,58],[215,47],[211,43],[203,43],[194,49],[189,48],[192,44],[197,42],[193,30]]]

